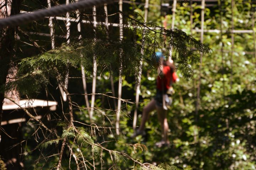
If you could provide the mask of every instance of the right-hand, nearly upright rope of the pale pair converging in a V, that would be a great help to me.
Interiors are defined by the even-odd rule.
[[[97,23],[96,23],[96,6],[93,7],[92,14],[94,15],[93,16],[93,18],[94,18],[94,27],[97,27]],[[93,78],[92,78],[91,111],[90,111],[90,115],[89,115],[90,120],[92,120],[92,114],[93,114],[93,111],[94,111],[96,78],[97,78],[97,61],[95,60],[95,56],[94,56],[94,72],[93,72]]]

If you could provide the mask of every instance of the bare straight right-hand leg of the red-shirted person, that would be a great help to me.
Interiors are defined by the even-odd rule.
[[[158,114],[158,120],[161,124],[161,131],[162,131],[162,139],[165,143],[170,143],[168,138],[168,122],[167,122],[167,111],[164,110],[162,107],[156,108]]]

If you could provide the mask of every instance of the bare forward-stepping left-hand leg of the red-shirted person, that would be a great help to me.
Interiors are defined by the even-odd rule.
[[[140,122],[139,131],[143,131],[145,128],[146,121],[149,118],[149,113],[156,109],[156,101],[154,98],[145,106],[142,110],[142,121]]]

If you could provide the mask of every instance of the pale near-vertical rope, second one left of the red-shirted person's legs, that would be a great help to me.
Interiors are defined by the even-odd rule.
[[[119,0],[119,11],[123,11],[123,0]],[[119,24],[120,24],[120,40],[122,41],[123,39],[123,18],[122,18],[122,14],[119,13]],[[120,63],[121,63],[121,68],[122,68],[122,54],[120,54]],[[120,70],[120,75],[119,75],[119,83],[118,83],[118,98],[120,99],[122,97],[122,77],[121,77],[121,71],[122,69]],[[117,118],[117,121],[116,121],[116,133],[117,135],[119,135],[119,120],[120,120],[120,111],[121,109],[121,100],[118,100],[118,103],[117,103],[117,112],[116,112],[116,118]]]

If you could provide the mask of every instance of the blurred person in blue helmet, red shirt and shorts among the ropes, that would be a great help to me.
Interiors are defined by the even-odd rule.
[[[170,145],[167,135],[169,126],[167,123],[166,106],[171,105],[172,103],[172,99],[170,97],[173,91],[172,83],[175,83],[178,77],[175,72],[173,60],[165,61],[165,57],[162,55],[162,52],[156,52],[156,57],[158,58],[158,62],[161,63],[158,63],[158,74],[160,75],[160,73],[162,73],[162,76],[158,76],[156,79],[156,96],[143,108],[142,120],[140,122],[139,129],[135,131],[131,137],[146,135],[144,130],[146,121],[149,119],[150,112],[156,110],[158,120],[161,124],[162,140],[160,142],[156,142],[155,146],[162,147]],[[159,66],[161,66],[160,69]]]

